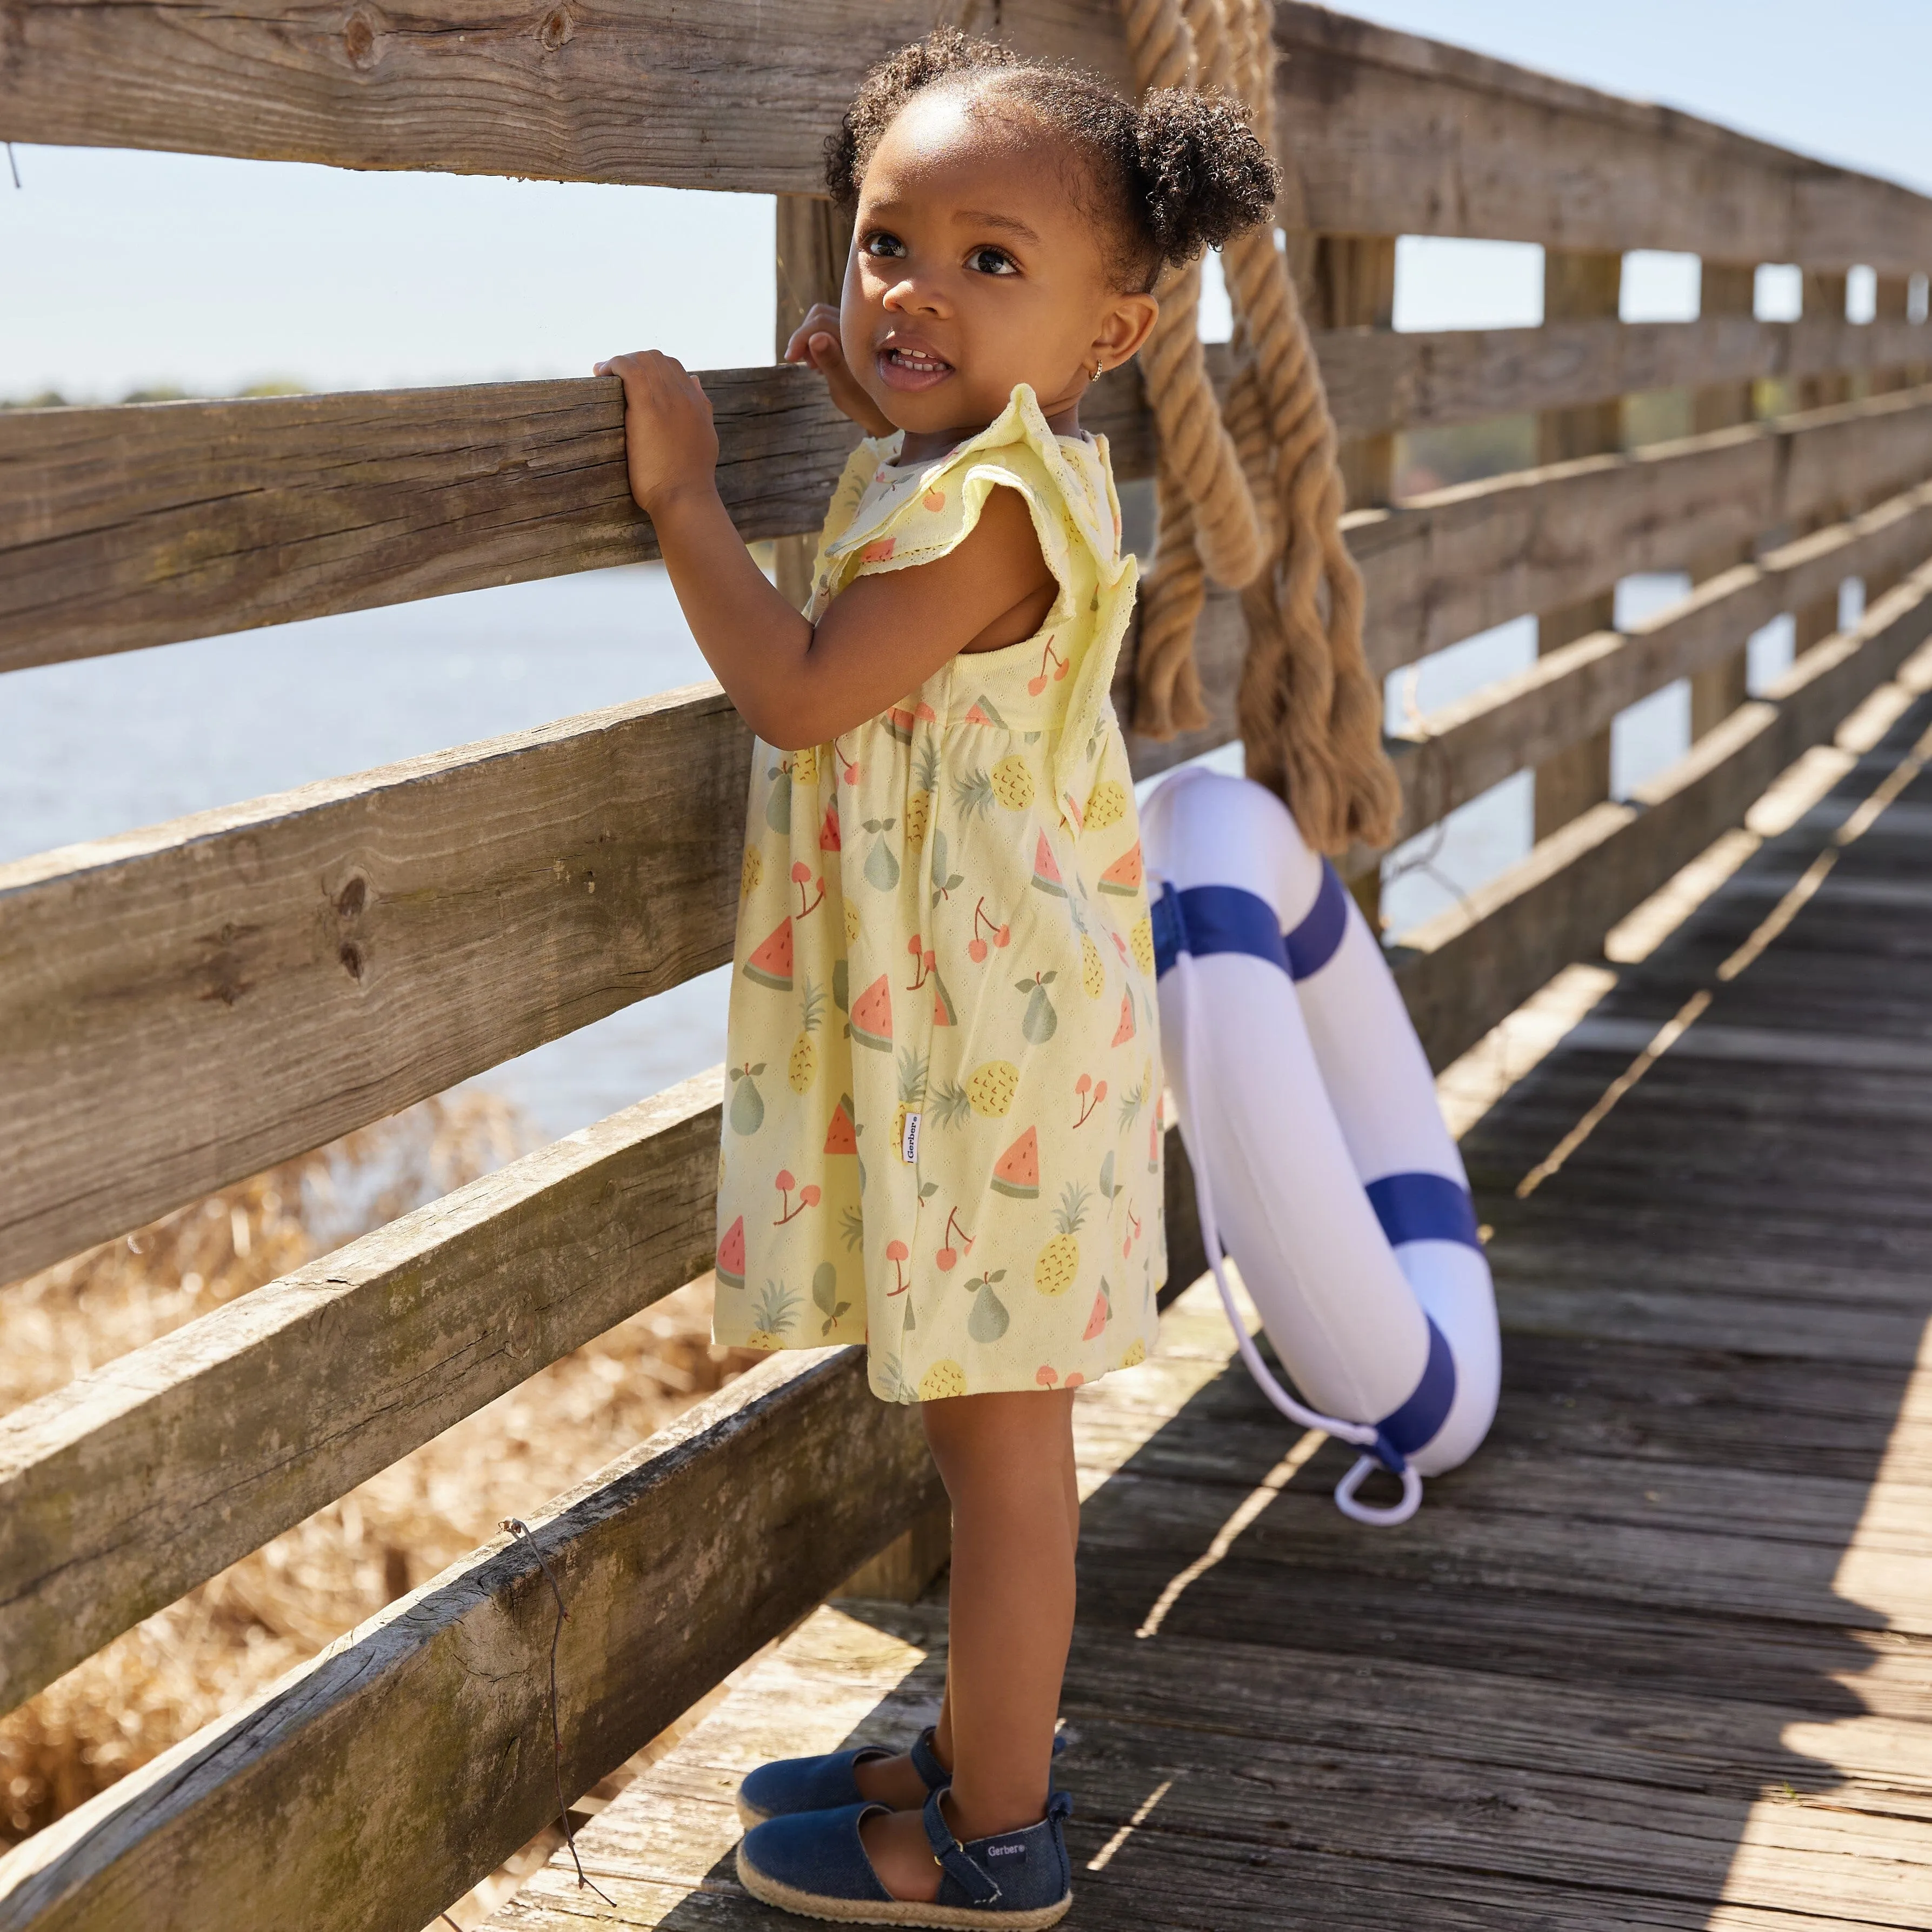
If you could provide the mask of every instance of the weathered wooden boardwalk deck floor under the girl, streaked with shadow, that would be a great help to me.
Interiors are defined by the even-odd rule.
[[[1814,757],[1466,1134],[1507,1385],[1412,1524],[1335,1513],[1200,1285],[1082,1405],[1068,1926],[1932,1924],[1928,724]],[[732,1880],[732,1783],[904,1739],[941,1671],[937,1596],[817,1611],[580,1833],[612,1905],[554,1861],[495,1922],[794,1924]]]

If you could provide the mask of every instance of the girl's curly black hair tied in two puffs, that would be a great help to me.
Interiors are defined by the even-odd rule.
[[[1150,290],[1167,263],[1194,261],[1265,222],[1281,189],[1281,170],[1246,110],[1223,95],[1161,87],[1136,106],[1080,68],[1020,60],[997,41],[939,27],[860,81],[825,143],[833,201],[844,209],[858,201],[885,129],[931,87],[1010,104],[1066,139],[1082,199],[1113,230],[1111,267],[1122,288]]]

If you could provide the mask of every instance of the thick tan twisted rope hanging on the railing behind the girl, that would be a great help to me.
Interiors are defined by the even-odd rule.
[[[1121,0],[1121,12],[1142,89],[1227,93],[1273,151],[1273,0]],[[1385,846],[1401,794],[1362,651],[1362,580],[1341,539],[1321,373],[1273,228],[1233,238],[1221,267],[1235,309],[1227,410],[1200,346],[1198,263],[1161,278],[1161,319],[1142,352],[1161,522],[1142,591],[1134,728],[1171,738],[1208,723],[1194,626],[1209,576],[1240,589],[1248,775],[1289,802],[1318,850]]]

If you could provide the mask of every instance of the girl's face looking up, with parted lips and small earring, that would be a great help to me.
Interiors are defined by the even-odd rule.
[[[1095,357],[1117,367],[1153,327],[1153,298],[1113,286],[1072,166],[1024,114],[976,116],[958,93],[887,128],[860,185],[840,338],[908,448],[983,429],[1016,383],[1065,413]]]

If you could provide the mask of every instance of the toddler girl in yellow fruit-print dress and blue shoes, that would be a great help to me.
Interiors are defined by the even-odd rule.
[[[624,381],[630,485],[757,732],[730,995],[715,1333],[864,1341],[952,1503],[939,1723],[904,1754],[765,1766],[738,1870],[821,1918],[1045,1926],[1072,1634],[1072,1391],[1155,1333],[1161,1055],[1126,750],[1134,601],[1090,383],[1163,265],[1267,216],[1233,108],[1138,108],[937,33],[829,143],[840,307],[786,350],[864,431],[788,609],[713,481],[670,357]]]

